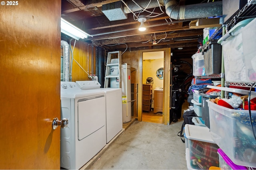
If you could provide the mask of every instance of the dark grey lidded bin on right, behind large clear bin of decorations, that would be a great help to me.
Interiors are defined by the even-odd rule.
[[[208,95],[208,94],[205,94],[204,92],[200,92],[199,94],[202,100],[202,120],[204,121],[204,125],[206,125],[210,129],[209,107],[206,100],[208,100],[209,98],[215,99],[219,96]]]

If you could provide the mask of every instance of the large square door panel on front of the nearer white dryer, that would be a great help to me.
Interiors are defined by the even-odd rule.
[[[78,140],[106,125],[106,99],[104,95],[78,100]]]

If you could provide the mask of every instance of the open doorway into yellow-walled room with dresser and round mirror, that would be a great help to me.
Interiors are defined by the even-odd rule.
[[[162,114],[162,109],[164,106],[163,88],[164,51],[143,52],[142,121],[151,123],[164,123]]]

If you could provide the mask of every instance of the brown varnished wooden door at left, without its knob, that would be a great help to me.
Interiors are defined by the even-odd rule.
[[[0,6],[0,169],[59,169],[60,0]],[[10,1],[11,2],[11,1]]]

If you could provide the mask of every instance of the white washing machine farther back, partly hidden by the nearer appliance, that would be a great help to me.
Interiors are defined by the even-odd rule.
[[[106,94],[106,142],[113,139],[123,128],[122,89],[100,88],[97,81],[76,81],[82,90],[96,90]],[[96,85],[94,85],[96,84]]]

